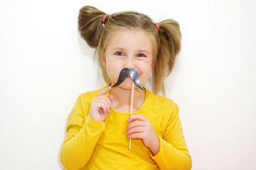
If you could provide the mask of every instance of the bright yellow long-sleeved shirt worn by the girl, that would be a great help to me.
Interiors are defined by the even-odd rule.
[[[112,108],[105,122],[90,117],[90,102],[100,91],[81,94],[69,115],[67,135],[60,151],[66,169],[191,169],[191,157],[174,101],[146,90],[142,107],[133,113],[149,119],[159,136],[160,150],[153,156],[140,139],[132,140],[129,150],[125,133],[130,113]]]

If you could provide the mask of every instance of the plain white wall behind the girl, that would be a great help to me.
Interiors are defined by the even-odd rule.
[[[126,4],[125,4],[126,3]],[[79,94],[104,86],[78,11],[135,10],[180,23],[166,79],[181,109],[193,170],[255,169],[256,1],[0,1],[0,169],[62,169],[58,154]]]

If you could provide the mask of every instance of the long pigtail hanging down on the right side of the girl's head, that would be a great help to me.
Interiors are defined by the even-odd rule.
[[[181,31],[178,23],[171,19],[159,23],[159,47],[155,61],[153,89],[164,94],[164,79],[174,68],[176,55],[181,50]]]

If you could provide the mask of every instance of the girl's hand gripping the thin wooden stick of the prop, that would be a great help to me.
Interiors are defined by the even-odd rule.
[[[142,139],[144,145],[149,147],[151,153],[155,156],[160,149],[159,137],[156,135],[150,121],[143,115],[131,115],[128,120],[130,124],[127,127],[127,137]]]

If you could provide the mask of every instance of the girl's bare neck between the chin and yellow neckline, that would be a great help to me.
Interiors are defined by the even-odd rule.
[[[112,106],[115,111],[129,113],[131,111],[132,90],[126,90],[117,87],[111,89],[110,94],[114,97]],[[134,89],[133,96],[133,112],[142,107],[146,97],[146,92],[141,89]]]

